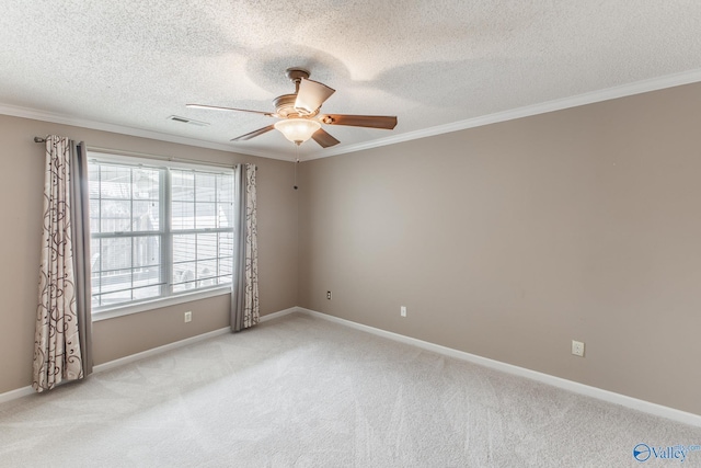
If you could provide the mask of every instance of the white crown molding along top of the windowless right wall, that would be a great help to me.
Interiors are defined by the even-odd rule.
[[[420,138],[433,137],[436,135],[448,134],[451,132],[466,130],[468,128],[481,127],[484,125],[496,124],[499,122],[513,121],[521,117],[530,117],[532,115],[545,114],[548,112],[562,111],[581,105],[594,104],[602,101],[625,98],[629,95],[641,94],[651,91],[657,91],[666,88],[674,88],[682,84],[690,84],[701,81],[701,69],[683,71],[680,73],[668,75],[665,77],[651,78],[648,80],[636,81],[633,83],[621,84],[619,87],[608,88],[605,90],[591,91],[570,98],[558,99],[539,104],[526,105],[509,111],[497,112],[494,114],[482,115],[479,117],[468,118],[464,121],[453,122],[446,125],[437,125],[435,127],[423,128],[421,130],[407,132],[405,134],[392,135],[387,138],[348,145],[344,147],[334,147],[327,150],[314,152],[304,161],[312,159],[327,158],[332,156],[356,152],[366,149],[379,148],[398,142],[411,141]]]

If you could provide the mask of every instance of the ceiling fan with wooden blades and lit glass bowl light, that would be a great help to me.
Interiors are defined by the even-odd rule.
[[[273,100],[275,112],[220,107],[205,104],[187,104],[186,106],[212,111],[250,112],[262,114],[266,117],[279,118],[279,121],[273,125],[232,138],[231,141],[245,141],[273,129],[277,129],[285,135],[285,138],[298,146],[309,138],[312,138],[323,148],[327,148],[337,145],[340,141],[324,130],[321,124],[384,128],[388,130],[397,126],[395,116],[320,114],[319,110],[321,109],[321,104],[323,104],[335,90],[318,81],[310,80],[309,71],[302,68],[288,68],[285,75],[295,83],[295,93],[283,94],[275,98]]]

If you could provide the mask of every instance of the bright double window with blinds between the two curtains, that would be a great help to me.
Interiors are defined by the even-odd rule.
[[[232,171],[90,157],[94,311],[231,284]]]

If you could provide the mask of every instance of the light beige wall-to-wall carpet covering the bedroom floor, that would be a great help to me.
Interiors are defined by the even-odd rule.
[[[2,467],[625,467],[701,429],[303,315],[0,406]]]

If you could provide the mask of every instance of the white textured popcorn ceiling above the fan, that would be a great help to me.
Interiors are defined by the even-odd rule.
[[[391,132],[327,126],[341,145],[310,140],[304,159],[701,69],[696,0],[0,1],[0,112],[275,158],[295,155],[278,132],[229,142],[269,117],[185,104],[273,111],[298,66],[336,90],[322,112],[399,118]]]

